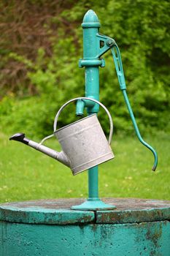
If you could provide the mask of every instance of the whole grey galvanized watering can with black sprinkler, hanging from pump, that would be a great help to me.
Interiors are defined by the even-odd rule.
[[[78,99],[88,99],[96,102],[107,112],[110,122],[109,141],[107,141],[107,138],[104,135],[104,131],[101,128],[101,124],[99,123],[96,114],[82,118],[79,121],[75,121],[72,124],[62,127],[61,129],[56,129],[58,117],[63,108],[65,108],[66,105],[69,105],[70,102],[77,101]],[[47,136],[41,141],[41,143],[28,140],[23,133],[12,135],[9,140],[18,140],[21,143],[31,146],[32,148],[53,157],[59,162],[62,162],[63,165],[70,167],[73,175],[114,158],[112,149],[109,146],[113,132],[112,116],[110,115],[109,110],[107,110],[107,108],[96,99],[90,99],[88,97],[70,99],[58,110],[58,113],[55,116],[53,128],[53,135]],[[45,140],[53,137],[54,135],[61,144],[61,152],[42,145]]]

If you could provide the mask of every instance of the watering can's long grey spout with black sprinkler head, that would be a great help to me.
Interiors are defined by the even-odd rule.
[[[51,148],[48,148],[47,146],[44,146],[42,144],[36,143],[33,140],[28,140],[28,138],[25,137],[24,133],[17,133],[15,135],[12,135],[9,140],[17,140],[21,143],[24,143],[28,146],[31,146],[31,148],[35,148],[38,151],[41,151],[44,154],[47,154],[47,156],[54,158],[55,160],[58,160],[59,162],[63,163],[63,165],[66,165],[67,167],[70,167],[70,161],[69,158],[66,156],[66,154],[61,151],[55,151]]]

